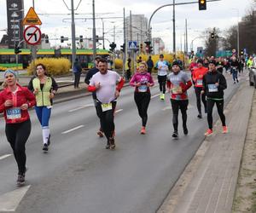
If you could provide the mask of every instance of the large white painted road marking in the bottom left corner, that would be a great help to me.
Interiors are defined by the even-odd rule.
[[[9,193],[4,193],[0,196],[0,212],[15,212],[21,199],[25,196],[27,190],[31,187],[20,187]]]

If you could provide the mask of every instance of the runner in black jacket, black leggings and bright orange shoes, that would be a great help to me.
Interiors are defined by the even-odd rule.
[[[226,88],[227,83],[224,75],[217,72],[216,61],[210,60],[209,72],[203,77],[203,89],[201,91],[201,93],[206,93],[207,95],[207,121],[209,129],[205,133],[206,136],[212,135],[212,108],[215,103],[222,122],[223,133],[228,132],[224,116],[224,89]]]

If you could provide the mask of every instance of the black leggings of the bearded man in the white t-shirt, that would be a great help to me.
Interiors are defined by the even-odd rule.
[[[101,102],[97,102],[96,107],[98,115],[100,117],[102,130],[106,135],[109,144],[109,138],[113,137],[114,131],[113,113],[116,107],[116,101],[112,101],[112,110],[102,112]]]

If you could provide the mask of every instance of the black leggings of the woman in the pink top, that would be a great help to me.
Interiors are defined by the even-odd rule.
[[[135,92],[134,101],[137,105],[139,116],[142,118],[143,126],[145,127],[148,121],[148,105],[150,102],[150,93]]]

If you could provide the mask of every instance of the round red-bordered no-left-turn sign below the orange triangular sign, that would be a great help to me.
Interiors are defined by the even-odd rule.
[[[38,26],[27,26],[23,37],[26,43],[36,45],[41,41],[41,31]]]

